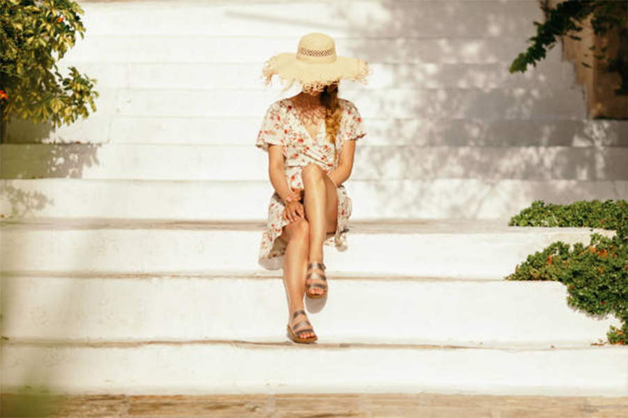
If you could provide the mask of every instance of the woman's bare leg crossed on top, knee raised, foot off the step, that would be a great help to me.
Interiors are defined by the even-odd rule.
[[[308,261],[323,261],[323,241],[327,232],[336,231],[338,225],[338,192],[334,182],[317,164],[304,167],[301,178],[305,215],[310,224]],[[313,288],[312,292],[322,293],[322,289]]]

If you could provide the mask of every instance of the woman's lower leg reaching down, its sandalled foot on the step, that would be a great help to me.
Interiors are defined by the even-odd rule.
[[[279,236],[287,242],[285,258],[283,259],[283,284],[288,295],[288,321],[291,325],[301,322],[305,318],[297,316],[292,318],[292,312],[304,309],[303,295],[305,292],[306,262],[309,250],[309,226],[305,219],[297,219],[284,226],[283,233]],[[312,327],[299,327],[298,330],[307,330]],[[303,332],[300,336],[308,338],[314,336],[313,331]]]

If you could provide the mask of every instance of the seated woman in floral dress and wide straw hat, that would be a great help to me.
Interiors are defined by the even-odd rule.
[[[341,183],[353,167],[354,140],[366,134],[355,105],[338,98],[338,82],[366,82],[369,68],[364,60],[336,56],[331,37],[308,33],[297,54],[271,57],[263,75],[267,84],[278,75],[290,81],[285,89],[294,82],[303,87],[269,106],[257,136],[256,146],[269,153],[275,189],[258,261],[278,268],[283,258],[287,334],[312,343],[317,336],[304,311],[304,291],[314,298],[327,293],[323,244],[346,247],[352,201]]]

